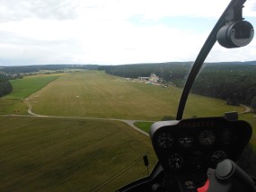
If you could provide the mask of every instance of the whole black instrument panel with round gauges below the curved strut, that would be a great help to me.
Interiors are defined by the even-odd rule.
[[[226,118],[161,121],[150,129],[163,170],[172,174],[206,172],[227,158],[237,161],[251,135],[247,122]]]

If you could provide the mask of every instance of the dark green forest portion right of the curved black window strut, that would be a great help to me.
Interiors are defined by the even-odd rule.
[[[192,92],[226,100],[228,105],[251,105],[256,96],[256,65],[207,65]]]

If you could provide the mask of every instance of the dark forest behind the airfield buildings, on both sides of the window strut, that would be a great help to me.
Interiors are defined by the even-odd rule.
[[[163,82],[182,87],[190,72],[191,62],[160,64],[104,65],[99,70],[128,78],[154,73]],[[208,63],[198,75],[191,92],[225,100],[226,104],[246,104],[256,109],[256,61]]]

